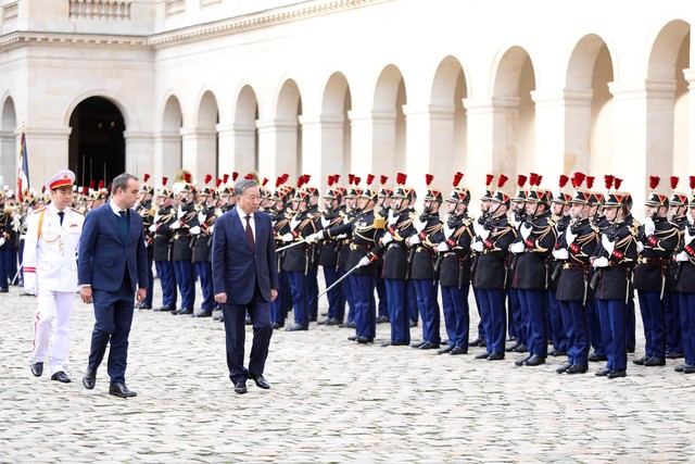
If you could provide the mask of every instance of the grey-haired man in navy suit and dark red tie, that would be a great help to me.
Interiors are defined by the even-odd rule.
[[[273,335],[270,302],[278,294],[278,272],[273,223],[268,214],[258,211],[258,185],[239,180],[235,195],[237,208],[215,223],[213,287],[225,319],[229,379],[237,393],[245,393],[247,378],[263,389],[270,388],[263,371]],[[248,369],[243,366],[247,311],[253,324]]]

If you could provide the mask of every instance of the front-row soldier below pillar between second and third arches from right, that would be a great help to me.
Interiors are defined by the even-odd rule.
[[[509,247],[509,251],[517,255],[513,285],[519,290],[521,308],[530,314],[529,353],[515,361],[518,366],[538,366],[544,364],[547,358],[547,321],[543,297],[549,279],[547,259],[557,238],[548,210],[552,193],[540,188],[542,176],[531,173],[530,177],[527,222],[521,224],[519,236]]]

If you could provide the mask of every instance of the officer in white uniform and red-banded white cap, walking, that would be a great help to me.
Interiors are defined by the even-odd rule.
[[[72,171],[60,171],[47,183],[51,202],[34,211],[27,218],[24,242],[24,289],[35,294],[36,313],[31,373],[43,373],[48,358],[51,328],[53,355],[51,380],[71,381],[67,369],[70,316],[77,291],[77,244],[85,217],[71,208],[73,203]]]

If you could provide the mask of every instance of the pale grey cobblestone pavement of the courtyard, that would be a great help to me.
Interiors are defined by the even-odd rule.
[[[593,375],[603,363],[557,375],[563,359],[516,367],[518,355],[473,360],[481,348],[452,356],[358,346],[349,329],[312,324],[276,331],[273,388],[250,383],[238,396],[222,324],[136,311],[127,384],[138,397],[123,400],[108,394],[105,366],[94,390],[81,385],[93,314],[76,300],[73,383],[63,385],[29,372],[35,300],[16,287],[0,296],[1,462],[695,460],[695,376],[673,372],[675,361],[630,363],[627,378],[608,380]],[[377,336],[388,339],[388,324]],[[642,347],[641,327],[637,336]]]

